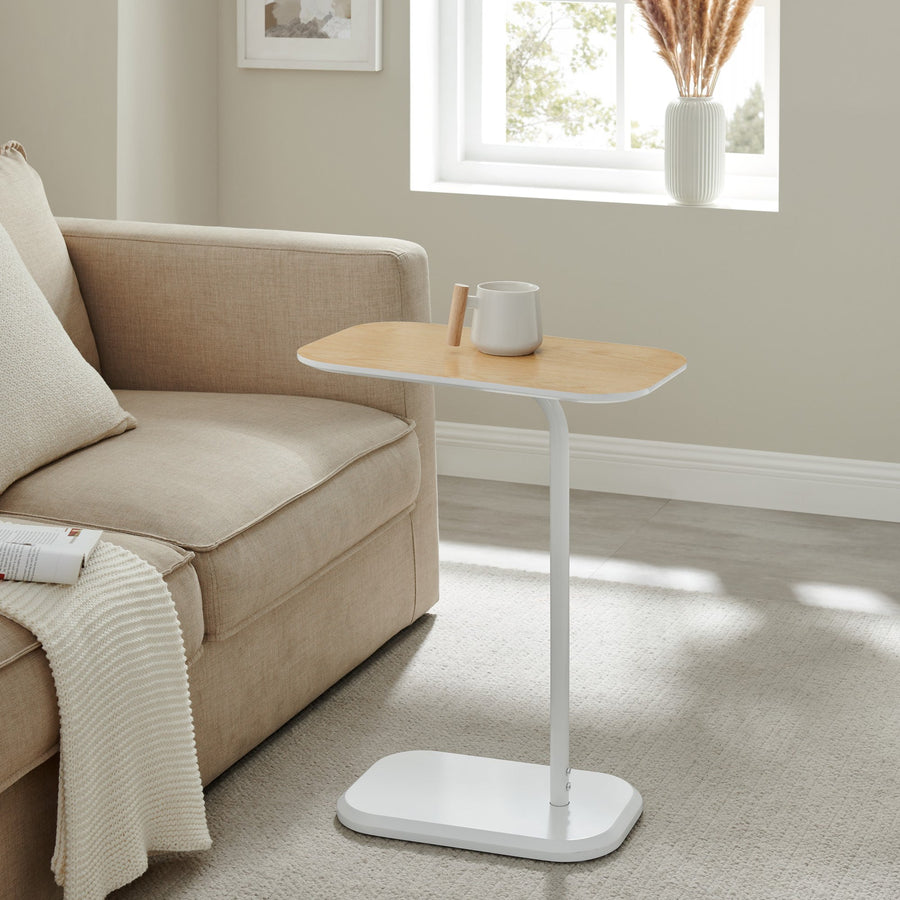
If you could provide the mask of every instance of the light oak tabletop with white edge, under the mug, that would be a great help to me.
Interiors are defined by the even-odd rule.
[[[452,347],[446,325],[423,322],[354,325],[306,344],[297,357],[326,372],[582,403],[643,397],[686,367],[670,350],[549,335],[528,356],[488,356],[472,346],[468,328]]]

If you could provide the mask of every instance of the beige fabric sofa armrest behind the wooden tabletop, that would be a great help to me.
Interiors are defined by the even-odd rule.
[[[401,385],[315,372],[297,348],[360,322],[428,321],[416,244],[60,219],[113,388],[304,394],[406,414]]]

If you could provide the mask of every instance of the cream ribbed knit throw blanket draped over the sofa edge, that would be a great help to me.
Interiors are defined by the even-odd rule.
[[[74,585],[0,582],[0,612],[43,644],[59,703],[53,872],[100,900],[147,854],[210,846],[184,643],[162,576],[101,541]]]

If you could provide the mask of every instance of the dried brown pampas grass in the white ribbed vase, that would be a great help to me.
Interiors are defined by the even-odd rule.
[[[682,97],[711,97],[753,0],[634,0]]]

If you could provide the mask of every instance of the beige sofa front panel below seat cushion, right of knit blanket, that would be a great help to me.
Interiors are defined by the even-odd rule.
[[[204,784],[410,624],[410,532],[401,513],[266,615],[204,644],[190,673]]]

